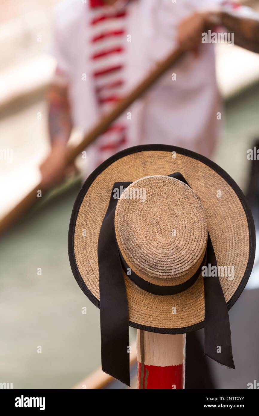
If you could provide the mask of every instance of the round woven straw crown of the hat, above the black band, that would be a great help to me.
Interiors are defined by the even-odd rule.
[[[200,266],[207,245],[199,198],[185,183],[168,176],[147,176],[123,191],[115,231],[128,266],[155,285],[188,280]]]

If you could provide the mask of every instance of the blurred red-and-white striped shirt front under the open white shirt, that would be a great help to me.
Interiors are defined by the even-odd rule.
[[[107,7],[102,0],[90,0],[89,56],[91,74],[99,104],[100,116],[111,111],[123,98],[124,67],[127,42],[127,7]],[[127,144],[125,115],[118,119],[103,135],[99,144],[97,165],[106,152],[116,153]]]

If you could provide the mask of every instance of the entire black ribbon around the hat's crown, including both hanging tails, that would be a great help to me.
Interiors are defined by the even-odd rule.
[[[169,175],[189,186],[181,173]],[[123,270],[128,265],[118,248],[114,228],[114,216],[118,199],[116,190],[127,188],[132,182],[116,182],[113,185],[109,206],[101,225],[98,240],[100,319],[101,319],[101,360],[102,370],[130,386],[129,376],[129,333],[128,301]],[[121,194],[121,193],[120,193]],[[206,266],[215,266],[217,260],[208,233]],[[155,295],[173,295],[191,287],[200,275],[202,265],[186,282],[175,286],[153,285],[131,270],[128,277],[141,289]],[[216,275],[204,278],[205,292],[205,355],[234,368],[231,348],[229,316],[220,280]]]

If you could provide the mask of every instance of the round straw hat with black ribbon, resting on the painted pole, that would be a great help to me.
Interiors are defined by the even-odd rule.
[[[247,283],[255,254],[252,214],[232,178],[204,156],[165,145],[121,151],[89,176],[72,212],[69,259],[76,281],[97,307],[101,289],[102,361],[111,354],[104,351],[107,342],[116,349],[116,342],[106,338],[119,326],[111,321],[125,308],[123,287],[128,306],[128,315],[122,313],[124,326],[127,322],[166,334],[204,327],[205,292],[217,292],[209,289],[213,276],[207,264],[209,244],[209,260],[215,253],[218,266],[218,296],[223,292],[227,305],[225,318]],[[118,269],[111,270],[111,261],[123,277],[118,277]],[[206,296],[210,298],[206,320],[213,322],[218,301]],[[121,327],[119,331],[124,330]],[[213,351],[207,355],[225,364]],[[124,377],[111,368],[104,371]]]

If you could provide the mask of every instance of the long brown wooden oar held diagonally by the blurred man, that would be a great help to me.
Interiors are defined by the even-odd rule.
[[[90,143],[92,143],[98,136],[104,133],[106,129],[113,123],[114,120],[120,116],[123,111],[125,111],[128,106],[130,106],[136,99],[141,97],[143,93],[145,93],[148,88],[150,88],[155,81],[157,81],[161,75],[165,73],[170,67],[175,64],[175,62],[180,59],[183,55],[183,51],[181,49],[177,49],[172,52],[164,61],[160,62],[156,69],[153,72],[150,72],[146,79],[141,82],[133,91],[128,94],[118,105],[106,116],[104,116],[101,121],[91,130],[88,134],[84,137],[80,144],[71,148],[68,147],[67,149],[67,166],[70,165],[76,156],[78,156]],[[27,210],[29,210],[40,198],[38,198],[38,191],[42,191],[42,196],[44,191],[48,191],[44,189],[42,184],[39,183],[35,186],[28,195],[22,199],[18,203],[15,208],[13,208],[1,221],[0,221],[0,233],[10,227],[21,215],[25,214]]]

